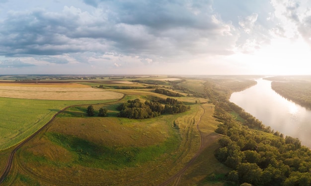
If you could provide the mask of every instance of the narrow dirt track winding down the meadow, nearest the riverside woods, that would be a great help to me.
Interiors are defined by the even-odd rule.
[[[200,148],[199,148],[198,152],[193,156],[193,158],[186,164],[186,166],[184,168],[182,168],[178,173],[176,173],[174,176],[172,176],[171,178],[169,178],[168,180],[166,180],[165,182],[163,182],[159,186],[166,186],[166,185],[168,185],[169,183],[171,183],[173,181],[174,181],[173,186],[178,186],[179,183],[180,183],[182,175],[193,164],[193,162],[197,159],[197,157],[201,154],[201,151],[203,149],[203,144],[204,144],[204,138],[203,138],[202,131],[199,128],[199,123],[200,123],[202,117],[205,114],[205,109],[204,109],[204,107],[202,105],[200,105],[200,106],[203,109],[203,114],[200,116],[200,119],[199,119],[199,121],[196,124],[196,128],[199,131],[200,136],[201,136],[201,144],[200,144]]]

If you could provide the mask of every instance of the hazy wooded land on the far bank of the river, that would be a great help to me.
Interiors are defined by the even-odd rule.
[[[271,88],[281,96],[292,100],[304,107],[311,108],[311,83],[310,82],[276,82],[271,83]]]

